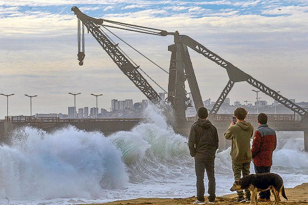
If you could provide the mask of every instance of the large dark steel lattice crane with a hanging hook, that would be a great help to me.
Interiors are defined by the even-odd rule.
[[[90,32],[95,37],[95,39],[97,39],[98,43],[108,53],[108,55],[112,58],[114,63],[117,64],[117,66],[133,82],[133,84],[136,85],[137,88],[139,88],[139,90],[141,90],[145,94],[145,96],[154,104],[157,104],[161,100],[161,98],[158,95],[158,93],[150,86],[147,80],[142,76],[139,70],[141,70],[144,74],[146,73],[139,66],[137,66],[137,64],[135,64],[119,48],[118,44],[115,44],[112,42],[110,37],[104,32],[103,29],[106,29],[107,31],[109,31],[106,28],[106,27],[109,27],[109,28],[123,29],[123,30],[132,31],[132,32],[140,32],[140,33],[151,34],[151,35],[160,35],[160,36],[173,35],[174,36],[174,44],[168,47],[168,50],[171,51],[169,72],[167,71],[165,72],[169,74],[167,101],[168,103],[172,105],[175,111],[175,116],[177,120],[185,120],[185,110],[187,107],[191,106],[191,100],[186,96],[187,95],[187,92],[185,90],[186,80],[188,81],[188,85],[189,85],[190,92],[194,100],[196,109],[198,110],[200,107],[203,107],[203,102],[202,102],[199,86],[198,86],[195,72],[194,72],[194,69],[192,68],[191,59],[188,53],[188,47],[202,54],[208,59],[214,61],[219,66],[225,68],[227,71],[228,77],[229,77],[228,83],[223,89],[219,98],[217,99],[213,109],[210,111],[210,115],[217,114],[219,108],[223,104],[223,101],[225,100],[226,96],[228,95],[230,90],[233,88],[235,83],[246,81],[248,84],[252,85],[253,87],[265,93],[266,95],[277,100],[280,104],[284,105],[285,107],[299,114],[303,119],[305,120],[308,119],[308,112],[306,110],[296,105],[295,103],[293,103],[291,100],[287,99],[286,97],[280,95],[275,90],[267,87],[266,85],[261,83],[259,80],[253,78],[251,75],[248,75],[247,73],[243,72],[239,68],[235,67],[233,64],[223,59],[216,53],[210,51],[205,46],[201,45],[196,40],[190,38],[187,35],[180,35],[178,31],[167,32],[161,29],[137,26],[137,25],[126,24],[126,23],[121,23],[121,22],[114,22],[112,20],[107,20],[107,19],[93,18],[93,17],[87,16],[86,14],[82,13],[77,7],[73,7],[72,11],[78,17],[78,37],[79,37],[78,59],[80,60],[79,64],[83,65],[83,59],[85,57],[85,54],[84,54],[84,26],[86,26],[88,32]],[[82,22],[82,26],[81,26],[81,22]],[[82,32],[82,35],[81,35],[81,32]],[[81,44],[81,41],[82,41],[82,44]],[[126,42],[124,43],[127,44]],[[130,60],[133,62],[134,65],[131,63]],[[153,63],[153,61],[151,62]],[[150,76],[148,77],[150,78]],[[153,80],[152,78],[150,79]],[[154,81],[154,83],[156,82]]]

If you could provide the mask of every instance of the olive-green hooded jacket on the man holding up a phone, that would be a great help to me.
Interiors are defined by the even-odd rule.
[[[250,140],[253,134],[254,127],[247,121],[238,121],[224,133],[226,139],[232,140],[232,163],[247,163],[252,160]]]

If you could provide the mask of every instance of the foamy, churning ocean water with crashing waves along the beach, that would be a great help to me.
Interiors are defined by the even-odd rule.
[[[187,138],[168,127],[157,111],[148,112],[148,122],[108,137],[72,126],[53,133],[31,127],[16,130],[13,145],[0,147],[0,204],[98,203],[196,195],[194,160]],[[308,182],[303,133],[278,132],[277,136],[272,172],[282,176],[286,188]],[[232,193],[229,152],[230,148],[216,155],[218,196]]]

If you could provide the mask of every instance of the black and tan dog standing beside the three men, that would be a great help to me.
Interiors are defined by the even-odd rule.
[[[270,189],[275,197],[275,201],[273,205],[278,205],[280,201],[279,194],[283,196],[287,200],[285,196],[283,180],[282,178],[275,173],[262,173],[262,174],[250,174],[244,176],[240,180],[236,180],[233,183],[230,191],[242,191],[249,190],[251,192],[251,202],[250,205],[258,204],[257,193],[259,191],[265,191]]]

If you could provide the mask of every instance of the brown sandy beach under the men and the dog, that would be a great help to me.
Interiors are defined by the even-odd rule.
[[[303,183],[302,185],[296,186],[294,188],[285,189],[286,196],[288,200],[281,196],[280,204],[288,205],[300,205],[308,204],[308,183]],[[236,199],[236,194],[229,194],[224,196],[219,196],[215,200],[215,204],[245,204],[234,202]],[[192,204],[196,200],[195,196],[189,198],[138,198],[130,200],[112,201],[108,203],[96,203],[87,205],[142,205],[142,204],[153,204],[153,205],[186,205]],[[274,202],[274,197],[271,196],[271,202],[258,202],[258,204],[272,204]],[[248,203],[247,203],[248,204]],[[85,204],[80,204],[85,205]]]

